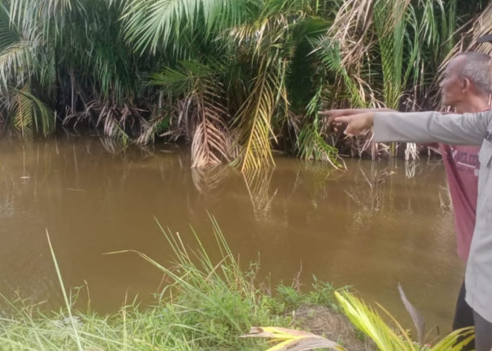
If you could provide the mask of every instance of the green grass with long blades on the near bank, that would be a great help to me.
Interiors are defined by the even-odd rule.
[[[65,307],[44,313],[21,299],[8,302],[11,316],[0,318],[0,350],[266,350],[265,340],[240,336],[251,326],[294,326],[292,311],[303,304],[335,306],[334,289],[316,279],[304,294],[291,286],[278,286],[273,294],[259,289],[257,265],[243,272],[213,218],[212,223],[218,262],[197,234],[200,249],[190,251],[179,234],[166,230],[176,259],[172,267],[137,252],[167,277],[155,305],[129,303],[105,316],[75,310],[59,274]],[[56,248],[56,265],[55,253]]]

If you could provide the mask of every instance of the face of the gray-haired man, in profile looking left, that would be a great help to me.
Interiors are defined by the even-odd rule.
[[[444,79],[440,84],[443,105],[455,106],[464,98],[462,90],[463,79],[459,74],[462,59],[461,57],[451,59],[444,71]]]

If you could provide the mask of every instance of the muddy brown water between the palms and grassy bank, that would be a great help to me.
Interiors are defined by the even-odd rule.
[[[161,274],[131,253],[172,260],[155,218],[184,240],[190,226],[210,252],[209,213],[243,265],[259,258],[259,278],[302,289],[316,279],[354,286],[410,326],[399,283],[427,325],[451,326],[464,265],[439,160],[347,160],[348,170],[276,157],[276,168],[190,169],[171,145],[115,153],[98,138],[57,138],[22,147],[0,142],[0,293],[61,305],[48,230],[65,285],[101,313],[158,291]],[[268,276],[268,278],[266,278]],[[0,301],[0,314],[6,303]]]

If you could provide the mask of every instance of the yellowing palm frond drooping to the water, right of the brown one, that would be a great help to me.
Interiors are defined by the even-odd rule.
[[[270,145],[271,139],[276,141],[272,117],[289,112],[285,77],[294,54],[292,31],[306,15],[299,4],[304,1],[272,1],[270,6],[278,5],[287,12],[271,15],[271,8],[266,7],[259,20],[231,31],[254,65],[247,98],[235,115],[236,140],[241,147],[236,161],[242,171],[275,164]]]

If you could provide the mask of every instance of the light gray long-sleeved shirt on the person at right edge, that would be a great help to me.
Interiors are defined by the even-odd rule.
[[[481,145],[477,221],[465,273],[466,300],[492,322],[492,111],[477,114],[378,112],[374,140]]]

